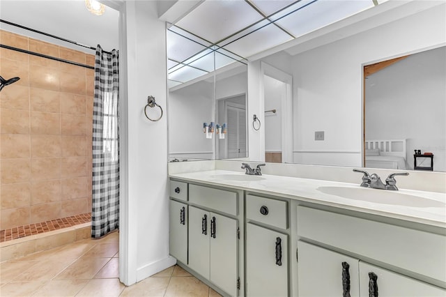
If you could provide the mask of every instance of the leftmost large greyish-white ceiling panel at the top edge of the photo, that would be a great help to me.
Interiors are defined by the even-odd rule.
[[[204,1],[176,25],[216,43],[262,18],[245,1]]]

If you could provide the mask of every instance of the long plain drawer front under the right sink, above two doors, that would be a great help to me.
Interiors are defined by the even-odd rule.
[[[298,235],[446,282],[446,236],[298,206]]]

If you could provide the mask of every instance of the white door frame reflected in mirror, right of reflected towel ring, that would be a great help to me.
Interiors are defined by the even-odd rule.
[[[292,116],[292,91],[293,91],[293,76],[279,70],[265,62],[261,62],[260,66],[260,97],[263,106],[265,106],[265,81],[264,75],[284,82],[286,85],[286,94],[282,98],[282,162],[293,162],[293,116]],[[263,108],[264,109],[264,108]],[[265,129],[262,130],[265,133]],[[263,139],[265,136],[263,135]],[[265,145],[263,145],[263,155],[265,155]]]

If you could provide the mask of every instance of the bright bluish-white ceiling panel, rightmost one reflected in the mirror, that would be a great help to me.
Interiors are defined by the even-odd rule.
[[[271,20],[277,20],[286,15],[277,20],[276,24],[283,26],[295,37],[298,37],[374,6],[371,0],[319,0],[305,1],[306,6],[302,6],[302,4],[304,1],[296,3],[296,7],[301,7],[294,13],[286,15],[296,9],[293,6],[277,13],[271,17]]]

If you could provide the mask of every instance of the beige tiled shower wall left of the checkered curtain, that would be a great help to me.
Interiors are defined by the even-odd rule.
[[[94,55],[0,30],[0,43],[94,66]],[[94,71],[0,49],[0,229],[91,211]]]

